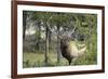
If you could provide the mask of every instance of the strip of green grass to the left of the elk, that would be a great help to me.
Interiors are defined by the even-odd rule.
[[[60,58],[60,63],[57,64],[56,54],[49,54],[48,66],[66,66],[68,65],[65,58]],[[43,53],[24,53],[23,54],[23,67],[45,67]]]

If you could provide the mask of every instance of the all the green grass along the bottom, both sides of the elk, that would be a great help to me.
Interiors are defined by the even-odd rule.
[[[49,53],[48,65],[44,63],[43,53],[24,53],[23,54],[23,67],[52,67],[52,66],[68,66],[66,58],[60,57],[60,62],[57,63],[56,53]],[[72,61],[71,65],[93,65],[96,64],[96,54],[86,52],[86,55],[78,57],[76,61]]]

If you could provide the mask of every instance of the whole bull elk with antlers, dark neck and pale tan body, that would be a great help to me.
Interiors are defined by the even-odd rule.
[[[76,41],[71,39],[71,35],[75,32],[76,27],[72,29],[72,31],[69,31],[69,34],[64,32],[65,35],[62,34],[60,36],[50,27],[49,23],[48,27],[52,34],[59,37],[62,55],[68,61],[69,65],[71,64],[71,61],[73,58],[84,55],[86,51],[86,45],[78,44]]]

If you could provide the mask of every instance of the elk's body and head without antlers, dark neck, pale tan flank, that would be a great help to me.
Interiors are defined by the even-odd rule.
[[[78,49],[81,48],[81,49]],[[60,39],[62,55],[68,61],[69,65],[76,57],[82,56],[85,53],[86,47],[84,44],[77,44],[68,38]]]

